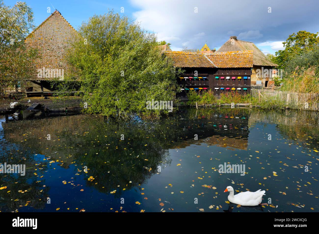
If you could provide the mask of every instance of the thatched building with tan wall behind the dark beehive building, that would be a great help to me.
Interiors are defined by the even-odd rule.
[[[230,52],[230,51],[254,51],[253,67],[251,73],[251,84],[263,84],[263,87],[268,86],[268,82],[272,78],[272,69],[278,65],[271,62],[266,55],[261,52],[258,47],[249,41],[238,40],[236,36],[231,36],[217,52]]]

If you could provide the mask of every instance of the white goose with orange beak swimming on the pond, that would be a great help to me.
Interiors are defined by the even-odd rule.
[[[261,189],[257,190],[256,192],[241,192],[239,194],[234,195],[234,188],[232,186],[228,186],[225,192],[229,192],[228,201],[233,202],[235,204],[241,206],[258,206],[261,204],[261,200],[263,195],[265,195],[265,190],[260,191]]]

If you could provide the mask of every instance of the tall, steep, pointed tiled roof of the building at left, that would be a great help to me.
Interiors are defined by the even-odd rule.
[[[54,11],[25,39],[26,46],[37,48],[39,58],[34,64],[32,80],[52,80],[52,77],[37,76],[38,69],[63,69],[64,75],[69,67],[65,60],[66,50],[74,41],[77,31],[63,18],[59,11]]]

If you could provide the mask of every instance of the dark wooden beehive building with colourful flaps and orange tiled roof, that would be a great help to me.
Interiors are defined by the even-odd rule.
[[[212,90],[217,97],[226,92],[250,92],[251,50],[207,54],[166,51],[165,55],[173,60],[174,67],[185,71],[177,77],[181,89],[177,97],[181,100],[188,100],[189,90]]]

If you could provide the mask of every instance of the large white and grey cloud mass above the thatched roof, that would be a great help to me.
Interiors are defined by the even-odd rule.
[[[129,1],[139,9],[132,13],[133,18],[146,30],[157,33],[158,40],[172,43],[172,48],[185,43],[189,49],[200,49],[205,43],[210,48],[220,47],[229,36],[238,35],[238,39],[255,44],[270,42],[267,46],[278,50],[282,48],[280,42],[292,32],[317,32],[319,25],[319,4],[315,0],[290,0],[289,4],[278,0],[258,4],[256,0]],[[268,13],[268,6],[272,13]]]

